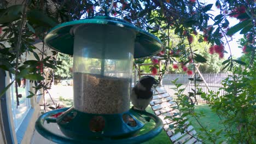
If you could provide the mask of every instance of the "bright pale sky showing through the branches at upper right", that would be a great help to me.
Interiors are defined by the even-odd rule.
[[[210,13],[212,15],[217,16],[219,15],[219,9],[217,9],[217,7],[215,6],[215,2],[216,1],[212,1],[212,0],[205,0],[205,1],[200,1],[200,2],[205,2],[206,5],[207,4],[213,4],[213,7],[212,7],[212,11],[208,11],[207,13]],[[232,27],[234,25],[236,25],[237,23],[239,23],[240,21],[237,20],[236,18],[234,17],[227,17],[230,25],[229,27]],[[213,21],[210,20],[209,21],[209,25],[213,25]],[[230,45],[230,49],[231,49],[231,54],[232,56],[235,56],[236,58],[242,56],[242,49],[241,48],[238,48],[238,46],[240,46],[236,41],[238,41],[239,39],[241,39],[243,37],[243,34],[239,34],[239,32],[235,33],[234,35],[232,35],[232,41],[229,42],[229,45]],[[223,38],[224,39],[224,38]],[[228,45],[225,45],[225,50],[229,53],[229,54],[225,54],[225,57],[229,57],[230,56],[230,52],[229,52],[229,48],[228,48]]]

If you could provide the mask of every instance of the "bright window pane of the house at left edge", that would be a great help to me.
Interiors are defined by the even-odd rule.
[[[14,79],[15,78],[13,76],[12,80]],[[26,117],[28,111],[31,109],[30,99],[27,98],[27,95],[29,95],[28,91],[30,91],[30,81],[25,81],[26,83],[24,83],[24,85],[18,87],[19,94],[22,94],[22,97],[19,98],[20,105],[18,106],[18,109],[15,93],[15,82],[13,83],[13,85],[11,85],[11,111],[13,112],[15,131],[19,129],[22,121],[24,121],[24,118]]]

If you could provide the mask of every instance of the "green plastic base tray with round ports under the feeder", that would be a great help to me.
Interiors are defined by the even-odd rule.
[[[51,117],[63,112],[59,117]],[[147,123],[145,118],[152,118],[155,127],[148,133],[138,135]],[[57,123],[65,136],[60,136],[45,129],[44,121]],[[162,121],[146,111],[130,109],[117,114],[93,114],[70,109],[57,109],[44,113],[37,119],[36,129],[46,139],[57,143],[141,143],[152,139],[162,130]]]

